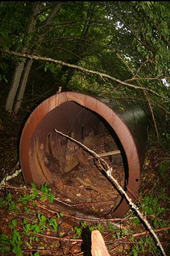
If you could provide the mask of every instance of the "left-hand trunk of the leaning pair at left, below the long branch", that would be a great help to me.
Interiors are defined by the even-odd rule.
[[[23,69],[24,69],[24,62],[18,62],[18,64],[16,65],[16,70],[13,74],[11,88],[7,95],[7,101],[6,101],[6,105],[5,105],[5,109],[9,113],[11,113],[11,111],[12,111],[13,102],[16,97],[16,93],[18,91],[18,86],[20,84],[20,78],[22,76]]]

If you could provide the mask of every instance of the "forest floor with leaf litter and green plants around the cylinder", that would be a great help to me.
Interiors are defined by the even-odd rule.
[[[20,168],[23,115],[0,109],[0,180]],[[170,255],[170,154],[148,146],[136,204],[147,215]],[[154,239],[130,210],[122,219],[87,222],[66,216],[45,185],[26,186],[20,173],[0,190],[0,255],[90,255],[90,232],[99,230],[110,255],[161,255]],[[117,223],[117,225],[115,225]]]

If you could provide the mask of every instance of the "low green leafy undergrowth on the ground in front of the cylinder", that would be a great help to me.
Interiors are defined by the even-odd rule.
[[[63,213],[57,212],[49,216],[49,214],[42,213],[38,209],[38,205],[45,203],[45,201],[49,201],[49,203],[54,201],[54,195],[47,184],[43,184],[40,190],[32,184],[32,189],[26,190],[24,195],[18,193],[17,197],[10,192],[5,197],[0,197],[0,207],[6,207],[7,213],[14,216],[7,227],[8,232],[1,232],[0,234],[1,255],[10,252],[18,256],[25,255],[25,253],[31,256],[45,255],[43,249],[45,249],[45,245],[47,246],[47,234],[50,234],[50,236],[52,234],[56,238],[67,238],[67,240],[71,238],[77,242],[78,239],[84,237],[83,234],[89,234],[92,230],[99,230],[105,240],[108,237],[109,253],[115,252],[117,247],[115,245],[123,245],[123,249],[122,247],[119,249],[122,254],[117,255],[161,255],[156,242],[146,232],[148,230],[144,229],[140,219],[132,211],[125,216],[122,222],[117,222],[117,224],[121,224],[119,228],[112,220],[96,224],[88,224],[84,221],[64,232],[60,229]],[[160,231],[159,238],[165,242],[163,239],[168,236],[170,224],[164,217],[169,209],[161,206],[163,201],[169,201],[164,188],[161,189],[157,197],[154,195],[140,195],[138,207],[147,216],[154,230],[163,230]],[[32,207],[36,209],[34,217],[32,217]],[[140,235],[140,232],[144,232],[144,235]],[[87,241],[90,243],[89,236],[87,236]],[[40,244],[43,245],[41,247],[42,252],[39,247]],[[58,243],[55,244],[56,252],[57,249],[59,249]]]

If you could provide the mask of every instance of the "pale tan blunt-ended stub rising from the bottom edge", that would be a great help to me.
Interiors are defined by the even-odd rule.
[[[111,256],[107,251],[107,247],[105,245],[101,232],[99,232],[98,230],[93,230],[91,235],[91,240],[92,240],[92,247],[91,247],[92,256]]]

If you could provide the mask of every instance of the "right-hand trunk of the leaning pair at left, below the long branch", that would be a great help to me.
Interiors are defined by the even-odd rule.
[[[15,104],[15,107],[14,107],[15,115],[18,113],[18,110],[21,107],[21,103],[22,103],[22,99],[24,97],[24,93],[25,93],[25,90],[26,90],[26,83],[28,81],[28,76],[30,74],[30,69],[31,69],[32,63],[33,63],[33,59],[28,59],[28,61],[26,62],[26,65],[24,67],[24,72],[22,72],[23,74],[22,74],[22,79],[21,79],[21,82],[20,82],[20,90],[18,92],[17,99],[16,99],[16,104]]]

